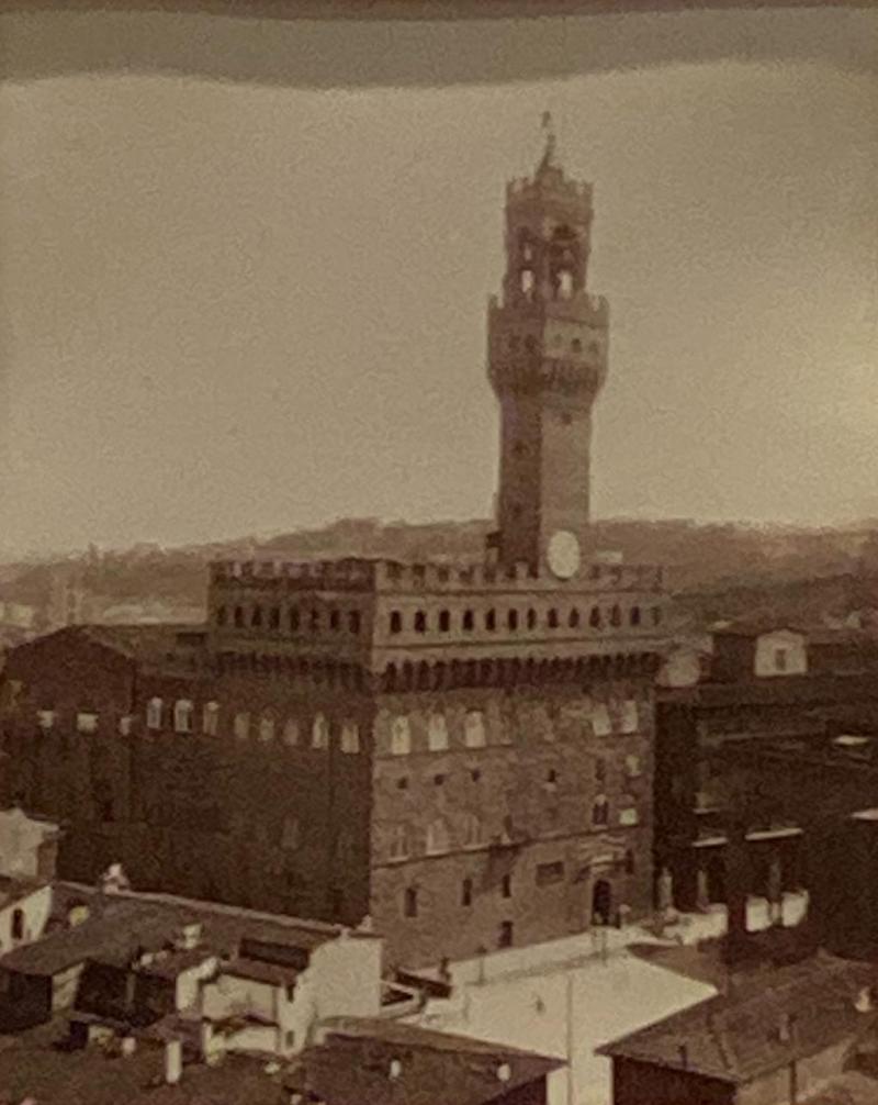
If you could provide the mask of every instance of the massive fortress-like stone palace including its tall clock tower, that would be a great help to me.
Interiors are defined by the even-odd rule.
[[[200,627],[12,652],[9,792],[63,818],[67,877],[358,924],[401,966],[652,908],[654,680],[668,596],[597,557],[609,307],[591,187],[553,139],[506,193],[488,311],[498,528],[482,562],[212,567]]]

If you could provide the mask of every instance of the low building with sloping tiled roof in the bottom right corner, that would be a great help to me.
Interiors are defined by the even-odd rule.
[[[876,985],[874,964],[823,955],[741,981],[601,1048],[613,1105],[878,1101]]]

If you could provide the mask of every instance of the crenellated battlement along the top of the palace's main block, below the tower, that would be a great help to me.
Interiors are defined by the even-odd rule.
[[[223,560],[211,566],[215,585],[252,585],[267,590],[353,590],[380,593],[532,593],[660,591],[663,570],[654,565],[586,566],[575,579],[559,580],[523,564],[501,569],[490,564],[402,564],[395,560],[335,561]]]

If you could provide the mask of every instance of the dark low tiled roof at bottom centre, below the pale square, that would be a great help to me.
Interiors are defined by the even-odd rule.
[[[290,1064],[284,1085],[326,1105],[483,1105],[563,1062],[379,1019],[326,1022],[327,1036]]]

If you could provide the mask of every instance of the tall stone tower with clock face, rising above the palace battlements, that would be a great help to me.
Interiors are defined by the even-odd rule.
[[[588,291],[591,186],[546,149],[506,191],[506,275],[488,308],[488,376],[500,404],[500,564],[574,576],[588,547],[592,407],[606,376],[609,311]]]

